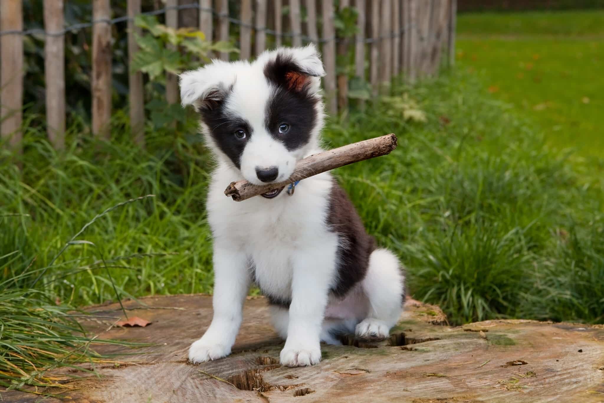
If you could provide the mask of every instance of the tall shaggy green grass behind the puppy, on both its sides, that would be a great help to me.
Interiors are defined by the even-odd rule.
[[[353,112],[347,123],[330,122],[326,143],[399,135],[391,155],[337,175],[368,231],[405,263],[411,294],[442,306],[452,323],[603,323],[596,280],[604,275],[602,177],[568,164],[538,126],[471,74],[444,74],[394,93],[416,100],[427,122],[403,121],[390,100]],[[72,305],[115,300],[107,267],[123,296],[211,292],[204,207],[211,158],[195,124],[176,134],[150,129],[141,151],[126,121],[115,115],[111,144],[92,143],[72,127],[61,155],[43,128],[29,129],[23,171],[3,159],[0,256],[15,255],[0,262],[0,279],[31,286],[35,276],[19,276],[25,267],[39,273],[96,214],[152,194],[86,228],[77,240],[87,242],[70,245],[36,288]]]

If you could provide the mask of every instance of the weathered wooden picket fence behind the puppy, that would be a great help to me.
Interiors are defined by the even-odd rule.
[[[22,0],[0,0],[0,134],[10,138],[8,144],[19,150],[21,143],[24,52],[23,37],[45,35],[45,78],[48,138],[56,149],[64,147],[65,133],[65,0],[44,1],[44,30],[23,30]],[[266,48],[267,35],[275,45],[291,42],[300,46],[315,42],[321,47],[327,76],[323,86],[327,109],[335,114],[347,108],[349,82],[346,74],[336,75],[336,56],[355,53],[355,74],[367,80],[378,95],[394,77],[415,82],[437,73],[445,54],[449,63],[454,59],[455,13],[457,0],[339,0],[338,6],[355,7],[358,13],[357,32],[353,38],[336,35],[335,2],[333,0],[241,0],[239,18],[229,13],[228,0],[165,0],[165,24],[178,27],[178,13],[196,10],[199,30],[209,40],[229,40],[230,24],[240,25],[239,56],[246,59]],[[289,13],[283,17],[283,7]],[[272,7],[269,10],[268,7]],[[304,7],[304,20],[301,10]],[[128,21],[129,60],[137,52],[132,19],[141,14],[141,0],[127,1],[126,18],[111,19],[110,0],[92,0],[92,133],[109,139],[111,118],[111,24]],[[272,13],[269,13],[272,11]],[[272,27],[267,27],[271,14]],[[82,24],[86,25],[86,24]],[[82,25],[78,28],[82,28]],[[321,27],[319,33],[318,27]],[[288,27],[288,31],[283,28]],[[252,46],[253,42],[253,46]],[[252,51],[253,50],[253,51]],[[216,55],[223,60],[233,54]],[[368,68],[366,66],[368,65]],[[178,102],[178,81],[169,76],[165,96]],[[130,123],[133,140],[144,144],[144,93],[141,73],[129,75]]]

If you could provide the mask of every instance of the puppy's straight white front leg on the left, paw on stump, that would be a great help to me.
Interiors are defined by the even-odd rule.
[[[214,317],[204,336],[191,344],[191,363],[205,363],[231,353],[242,321],[251,282],[245,254],[214,245]]]

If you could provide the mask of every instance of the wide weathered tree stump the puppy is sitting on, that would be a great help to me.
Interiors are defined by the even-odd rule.
[[[70,370],[82,378],[71,379],[68,392],[43,392],[62,392],[63,401],[119,403],[604,401],[601,325],[489,320],[451,327],[436,306],[408,300],[388,340],[343,337],[342,346],[321,346],[320,364],[289,368],[279,364],[283,341],[269,324],[265,298],[250,297],[233,353],[192,365],[188,346],[210,324],[211,297],[146,297],[124,305],[129,316],[152,324],[104,332],[115,321],[111,317],[121,317],[117,304],[92,307],[94,317],[83,323],[101,338],[157,345],[95,346],[101,353],[130,355],[97,365],[100,378]],[[0,395],[5,402],[40,398]]]

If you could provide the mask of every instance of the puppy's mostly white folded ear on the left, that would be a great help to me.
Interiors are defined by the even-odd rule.
[[[182,106],[193,105],[196,111],[216,108],[226,97],[227,78],[225,71],[220,71],[216,63],[185,71],[179,76]]]

